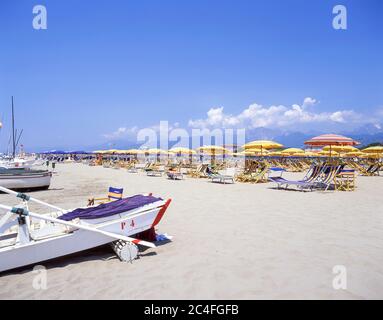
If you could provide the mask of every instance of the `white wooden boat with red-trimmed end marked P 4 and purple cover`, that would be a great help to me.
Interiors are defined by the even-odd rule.
[[[136,195],[95,207],[63,210],[6,188],[0,190],[23,200],[17,207],[0,205],[8,211],[0,216],[0,272],[107,243],[113,243],[122,261],[131,261],[137,257],[137,244],[155,247],[152,242],[132,236],[154,230],[171,202],[152,195]],[[28,210],[28,201],[58,211],[33,213]]]

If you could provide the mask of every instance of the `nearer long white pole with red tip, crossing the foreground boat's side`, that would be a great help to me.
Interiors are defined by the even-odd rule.
[[[93,228],[93,227],[86,226],[86,225],[81,225],[81,224],[76,224],[76,223],[72,223],[72,222],[68,222],[68,221],[63,221],[63,220],[56,219],[56,218],[53,218],[53,217],[49,217],[49,216],[41,215],[41,214],[38,214],[38,213],[34,213],[34,212],[28,211],[28,210],[26,210],[24,208],[10,207],[10,206],[2,205],[2,204],[0,204],[0,208],[8,210],[8,211],[10,211],[10,212],[12,212],[14,214],[18,214],[20,216],[28,216],[29,215],[32,218],[36,218],[36,219],[40,219],[40,220],[45,220],[45,221],[49,221],[49,222],[53,222],[53,223],[58,223],[58,224],[62,224],[62,225],[68,226],[68,227],[80,229],[80,230],[85,230],[85,231],[99,233],[99,234],[102,234],[104,236],[116,239],[116,240],[132,242],[134,244],[140,244],[140,245],[143,245],[143,246],[149,247],[149,248],[155,248],[156,247],[156,245],[154,243],[151,243],[151,242],[147,242],[147,241],[143,241],[143,240],[139,240],[139,239],[135,239],[135,238],[131,238],[131,237],[122,236],[122,235],[119,235],[119,234],[116,234],[116,233],[113,233],[113,232],[108,232],[108,231],[100,230],[100,229]]]

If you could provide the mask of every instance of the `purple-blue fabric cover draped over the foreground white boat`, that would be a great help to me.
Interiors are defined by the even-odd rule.
[[[125,211],[137,209],[146,204],[150,204],[156,201],[162,200],[153,196],[135,195],[133,197],[124,198],[108,203],[100,204],[97,207],[80,208],[74,211],[63,214],[59,219],[64,221],[70,221],[76,218],[80,219],[98,219],[109,217],[115,214],[119,214]]]

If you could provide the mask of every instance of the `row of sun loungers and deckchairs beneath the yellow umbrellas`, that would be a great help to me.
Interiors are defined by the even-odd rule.
[[[279,164],[279,166],[272,166]],[[106,167],[113,168],[119,166],[126,168],[128,172],[143,171],[147,176],[162,177],[166,176],[171,180],[183,180],[186,176],[192,178],[208,178],[213,183],[233,184],[236,181],[247,183],[276,183],[278,189],[295,189],[300,191],[314,190],[355,190],[355,175],[359,172],[362,175],[379,175],[383,168],[380,162],[377,163],[357,163],[354,161],[346,162],[314,162],[309,165],[307,159],[304,160],[248,160],[244,166],[238,163],[226,163],[219,166],[211,166],[202,163],[199,165],[189,164],[187,167],[179,164],[165,165],[159,162],[148,162],[145,164],[131,161],[121,164],[105,163]],[[228,166],[224,168],[224,166]],[[348,167],[346,169],[346,166]],[[220,170],[221,169],[221,170]],[[283,177],[285,172],[297,172],[307,170],[305,176],[300,180],[290,180]],[[276,175],[277,174],[277,175]]]

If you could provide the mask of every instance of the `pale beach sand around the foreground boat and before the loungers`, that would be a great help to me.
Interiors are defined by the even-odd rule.
[[[172,198],[158,232],[173,241],[132,264],[109,246],[43,263],[46,290],[33,288],[31,267],[0,274],[0,299],[383,298],[383,177],[358,177],[355,192],[303,193],[82,164],[56,170],[34,197],[73,208],[121,186]],[[16,202],[1,194],[0,203]],[[347,289],[333,288],[336,265],[346,267]]]

